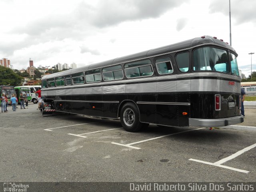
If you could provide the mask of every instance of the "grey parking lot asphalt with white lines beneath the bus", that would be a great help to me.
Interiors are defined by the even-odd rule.
[[[131,133],[119,120],[36,108],[0,114],[2,182],[255,182],[253,130],[150,124]],[[236,126],[255,126],[255,112]]]

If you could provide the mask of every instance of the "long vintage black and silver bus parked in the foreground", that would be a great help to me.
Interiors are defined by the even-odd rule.
[[[120,118],[130,132],[148,124],[238,124],[237,56],[222,40],[202,36],[50,74],[42,78],[43,115]]]

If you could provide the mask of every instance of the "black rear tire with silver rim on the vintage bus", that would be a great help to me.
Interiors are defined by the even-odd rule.
[[[123,128],[128,132],[137,132],[143,126],[140,122],[139,110],[132,102],[124,104],[121,109],[120,120]]]

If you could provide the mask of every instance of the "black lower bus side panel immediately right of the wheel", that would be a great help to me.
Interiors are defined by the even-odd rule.
[[[138,102],[156,102],[156,94],[140,94]],[[156,123],[156,104],[137,104],[140,110],[140,121]]]

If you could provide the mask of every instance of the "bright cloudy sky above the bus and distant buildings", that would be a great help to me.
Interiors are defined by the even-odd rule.
[[[232,47],[242,73],[256,53],[256,1],[231,0]],[[202,35],[230,43],[229,0],[1,0],[0,58],[14,69],[78,67]],[[252,55],[256,71],[256,54]]]

